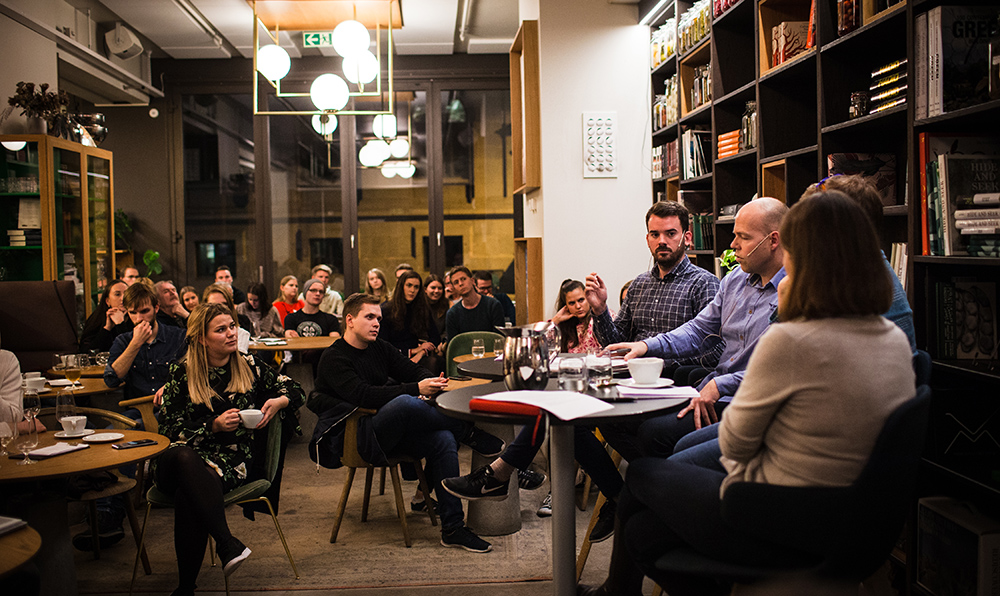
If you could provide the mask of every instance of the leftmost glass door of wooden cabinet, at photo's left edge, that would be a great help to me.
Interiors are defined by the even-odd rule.
[[[43,279],[38,143],[0,147],[0,281]]]

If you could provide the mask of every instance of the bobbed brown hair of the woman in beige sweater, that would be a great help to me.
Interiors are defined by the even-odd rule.
[[[892,305],[892,282],[867,215],[831,190],[799,201],[781,224],[791,287],[781,318],[880,315]]]

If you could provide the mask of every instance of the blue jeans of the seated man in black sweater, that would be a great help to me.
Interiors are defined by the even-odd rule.
[[[427,481],[438,500],[442,531],[465,523],[462,501],[441,488],[441,481],[458,471],[458,440],[470,425],[443,414],[429,402],[413,395],[400,395],[372,416],[372,428],[382,451],[390,459],[406,455],[427,460]]]

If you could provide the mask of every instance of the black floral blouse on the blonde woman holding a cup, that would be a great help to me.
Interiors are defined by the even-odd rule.
[[[253,459],[255,431],[240,425],[231,432],[215,433],[212,432],[212,422],[231,408],[259,409],[271,398],[287,397],[288,407],[280,410],[269,425],[291,421],[296,432],[301,434],[295,421],[295,411],[302,406],[304,397],[302,388],[290,377],[277,374],[249,354],[239,353],[234,357],[246,360],[253,371],[254,386],[250,392],[226,392],[231,376],[229,368],[210,368],[209,385],[219,397],[212,400],[211,409],[195,404],[188,392],[184,364],[174,363],[170,365],[170,377],[163,389],[163,406],[160,409],[160,434],[168,437],[172,446],[187,445],[194,449],[222,478],[225,491],[246,482]],[[266,433],[267,428],[260,431]]]

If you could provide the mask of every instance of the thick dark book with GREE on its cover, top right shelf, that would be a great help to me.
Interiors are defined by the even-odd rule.
[[[996,5],[935,6],[927,12],[926,28],[918,17],[915,46],[916,51],[927,48],[928,117],[990,100],[989,47],[997,33],[998,15]],[[918,81],[924,68],[917,67]],[[918,101],[920,94],[918,90]]]

